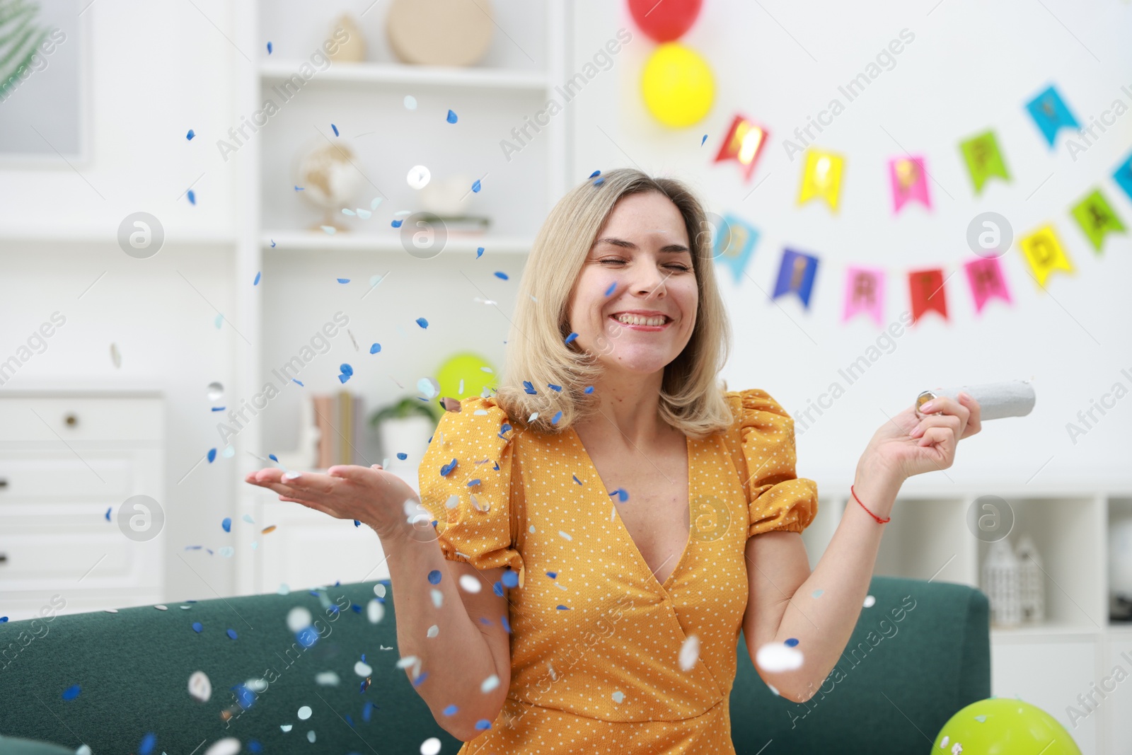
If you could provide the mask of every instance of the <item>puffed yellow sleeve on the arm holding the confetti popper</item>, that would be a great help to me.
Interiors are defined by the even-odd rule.
[[[801,532],[817,514],[817,483],[795,474],[794,419],[758,388],[730,392],[737,411],[743,487],[749,501],[747,537]]]

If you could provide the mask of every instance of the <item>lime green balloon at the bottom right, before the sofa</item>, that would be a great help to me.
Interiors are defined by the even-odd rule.
[[[954,749],[957,744],[962,750]],[[952,715],[936,735],[932,755],[951,755],[952,749],[967,755],[1081,755],[1054,717],[1017,697],[988,697]]]

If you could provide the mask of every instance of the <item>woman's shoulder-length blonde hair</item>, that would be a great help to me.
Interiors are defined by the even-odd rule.
[[[534,239],[518,284],[506,361],[496,394],[499,406],[516,427],[552,435],[597,412],[597,396],[586,394],[585,387],[594,385],[604,368],[595,354],[582,350],[576,341],[566,343],[571,333],[569,300],[590,249],[614,207],[623,197],[651,191],[668,197],[684,216],[698,292],[692,337],[684,351],[664,367],[660,418],[692,438],[703,438],[732,423],[731,410],[723,397],[727,383],[718,379],[730,351],[731,329],[715,284],[704,208],[678,180],[619,168],[566,192]],[[537,393],[530,393],[524,381]],[[559,411],[561,417],[554,422]],[[538,417],[528,422],[534,412]]]

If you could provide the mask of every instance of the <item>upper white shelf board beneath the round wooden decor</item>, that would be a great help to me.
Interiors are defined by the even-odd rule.
[[[259,63],[260,80],[264,84],[273,84],[289,79],[298,72],[305,62],[303,60],[261,61]],[[537,93],[546,92],[549,86],[547,75],[542,71],[412,66],[408,63],[333,63],[326,70],[317,71],[307,83],[400,84],[437,88],[479,87]]]

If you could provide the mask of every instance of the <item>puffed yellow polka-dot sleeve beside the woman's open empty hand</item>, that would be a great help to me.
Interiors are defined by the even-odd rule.
[[[421,504],[448,560],[509,566],[523,584],[511,496],[514,430],[495,398],[471,396],[445,412],[418,467]]]

